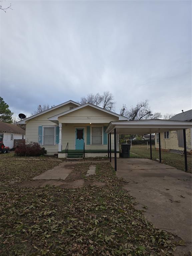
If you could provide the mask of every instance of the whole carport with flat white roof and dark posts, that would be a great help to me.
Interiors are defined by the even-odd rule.
[[[108,157],[110,158],[110,162],[111,162],[111,134],[114,134],[115,171],[117,171],[116,134],[150,134],[151,135],[152,133],[159,133],[159,161],[161,162],[160,133],[166,132],[166,131],[183,130],[185,171],[187,171],[187,147],[186,147],[185,130],[188,128],[192,128],[192,122],[162,120],[162,119],[110,122],[105,130],[105,132],[108,134]],[[151,139],[150,139],[150,153],[151,153],[151,159],[152,159]]]

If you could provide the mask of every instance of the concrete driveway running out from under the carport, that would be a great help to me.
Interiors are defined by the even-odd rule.
[[[124,188],[136,198],[137,207],[145,210],[155,227],[187,242],[175,255],[191,251],[191,174],[149,159],[119,158],[117,176],[129,182]]]

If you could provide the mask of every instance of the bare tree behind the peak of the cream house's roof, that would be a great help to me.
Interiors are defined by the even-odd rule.
[[[110,111],[114,110],[115,107],[114,96],[109,91],[105,91],[102,95],[99,93],[90,93],[86,97],[82,97],[80,100],[80,104],[85,104],[87,102]]]

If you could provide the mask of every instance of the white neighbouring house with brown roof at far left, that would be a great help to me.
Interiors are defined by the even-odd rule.
[[[6,147],[13,148],[14,140],[25,139],[25,130],[15,124],[0,121],[0,141]]]

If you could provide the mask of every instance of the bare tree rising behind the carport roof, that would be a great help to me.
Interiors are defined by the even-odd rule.
[[[131,106],[130,109],[127,109],[126,105],[123,105],[120,114],[127,117],[128,120],[145,120],[162,117],[159,112],[152,113],[148,100],[140,101],[135,107]]]

